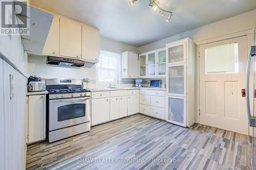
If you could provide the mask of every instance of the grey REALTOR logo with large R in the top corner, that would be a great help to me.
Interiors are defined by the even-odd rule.
[[[1,0],[0,35],[29,35],[29,6],[27,1]]]

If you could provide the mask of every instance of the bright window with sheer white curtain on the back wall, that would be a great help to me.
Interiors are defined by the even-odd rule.
[[[99,82],[116,82],[119,76],[120,54],[100,50],[97,75]]]

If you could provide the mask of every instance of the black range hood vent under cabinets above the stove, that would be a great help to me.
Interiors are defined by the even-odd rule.
[[[82,67],[84,66],[84,61],[69,59],[69,58],[61,58],[61,57],[53,57],[47,56],[47,64],[52,65],[60,65],[60,66],[70,66],[70,67]]]

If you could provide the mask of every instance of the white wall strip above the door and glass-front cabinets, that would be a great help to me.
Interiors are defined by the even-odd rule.
[[[236,15],[227,19],[223,19],[209,25],[202,26],[197,29],[193,29],[172,37],[168,37],[144,46],[137,48],[138,53],[144,53],[152,50],[156,50],[161,47],[165,47],[166,43],[179,40],[180,38],[189,37],[194,42],[206,40],[214,37],[219,37],[239,31],[244,31],[252,28],[256,28],[256,9]],[[172,24],[172,21],[170,21]]]

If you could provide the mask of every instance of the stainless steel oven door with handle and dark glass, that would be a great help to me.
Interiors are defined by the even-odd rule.
[[[90,122],[91,97],[49,102],[49,131]]]

